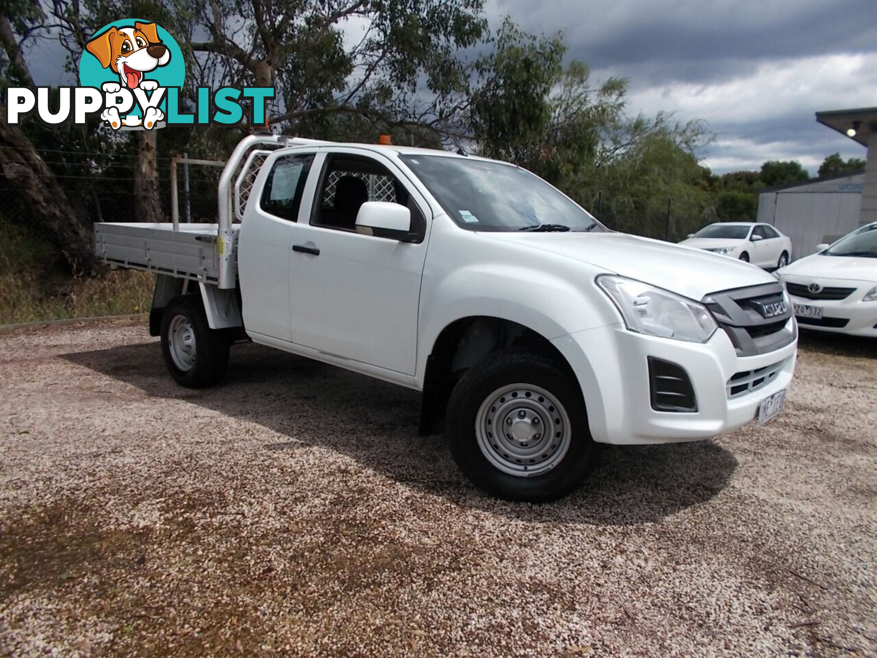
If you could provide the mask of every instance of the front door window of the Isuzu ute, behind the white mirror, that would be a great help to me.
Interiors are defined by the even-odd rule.
[[[358,155],[330,155],[317,189],[310,223],[340,231],[356,231],[356,216],[367,201],[402,204],[411,211],[411,232],[423,240],[426,220],[408,190],[380,162]],[[383,237],[377,230],[374,234]]]

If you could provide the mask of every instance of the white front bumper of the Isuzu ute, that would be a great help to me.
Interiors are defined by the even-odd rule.
[[[794,329],[794,320],[790,328]],[[754,356],[738,356],[722,330],[706,343],[628,331],[623,324],[571,333],[552,341],[573,367],[595,441],[671,443],[708,439],[752,422],[761,400],[788,387],[795,371],[795,340]],[[678,364],[691,380],[697,411],[652,409],[648,357]],[[772,376],[754,390],[732,394],[732,377],[766,368]],[[752,388],[752,387],[749,387]]]

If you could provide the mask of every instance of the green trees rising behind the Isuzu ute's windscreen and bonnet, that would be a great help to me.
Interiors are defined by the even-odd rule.
[[[583,62],[561,67],[565,52],[560,37],[503,25],[474,93],[479,154],[530,169],[619,230],[674,238],[715,217],[694,154],[702,124],[625,116],[627,81],[595,85]]]

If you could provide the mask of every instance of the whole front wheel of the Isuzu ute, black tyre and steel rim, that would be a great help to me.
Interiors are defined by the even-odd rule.
[[[506,500],[566,496],[595,461],[579,385],[542,354],[503,350],[470,368],[451,393],[445,423],[463,474]]]

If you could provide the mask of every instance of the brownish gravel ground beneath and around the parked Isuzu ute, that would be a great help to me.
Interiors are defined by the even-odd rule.
[[[877,348],[787,409],[503,503],[417,393],[257,346],[183,390],[132,322],[0,333],[0,654],[877,655]]]

